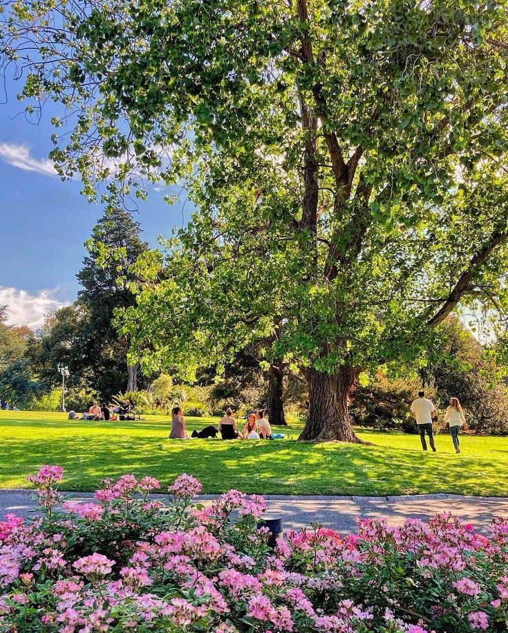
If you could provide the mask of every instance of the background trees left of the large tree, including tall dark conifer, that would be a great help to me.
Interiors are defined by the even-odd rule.
[[[113,325],[115,309],[134,302],[130,266],[147,250],[140,223],[120,208],[106,212],[86,241],[77,273],[77,300],[48,313],[42,327],[8,327],[0,312],[0,399],[18,407],[57,408],[61,376],[70,369],[68,407],[84,409],[93,398],[109,401],[147,384],[137,365],[128,365],[129,338]]]

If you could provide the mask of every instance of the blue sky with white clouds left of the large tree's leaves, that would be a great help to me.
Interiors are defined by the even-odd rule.
[[[83,243],[102,208],[79,194],[79,180],[55,176],[47,158],[55,131],[50,107],[38,125],[29,122],[16,98],[20,87],[8,84],[0,103],[0,305],[9,304],[12,324],[36,325],[45,311],[75,299]],[[156,188],[135,214],[153,246],[191,211],[185,199],[167,205]]]

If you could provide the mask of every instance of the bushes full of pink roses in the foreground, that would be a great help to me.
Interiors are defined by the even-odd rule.
[[[275,549],[262,497],[203,506],[199,481],[123,475],[93,503],[62,499],[62,469],[30,478],[41,515],[0,522],[0,632],[467,633],[508,630],[508,522],[312,525]]]

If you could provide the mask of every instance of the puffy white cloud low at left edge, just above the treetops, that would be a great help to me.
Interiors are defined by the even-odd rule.
[[[7,305],[9,325],[39,327],[44,322],[44,314],[66,305],[55,298],[56,290],[43,290],[35,295],[19,288],[0,286],[0,306]]]

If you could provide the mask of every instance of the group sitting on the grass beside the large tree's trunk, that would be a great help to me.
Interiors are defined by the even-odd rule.
[[[226,414],[220,419],[218,427],[214,425],[205,426],[200,431],[194,430],[191,437],[207,438],[217,437],[220,433],[222,439],[273,439],[270,422],[265,418],[263,409],[258,409],[248,416],[247,423],[242,431],[238,430],[233,411],[227,408]],[[185,427],[185,418],[180,407],[173,407],[173,419],[171,420],[171,439],[188,439],[189,434]]]

